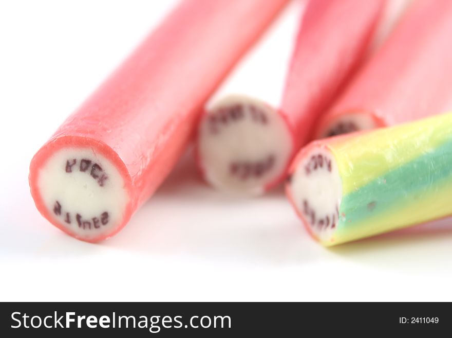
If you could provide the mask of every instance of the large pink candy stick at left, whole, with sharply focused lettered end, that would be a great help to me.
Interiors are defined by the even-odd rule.
[[[205,101],[287,0],[184,0],[69,116],[30,165],[52,224],[95,242],[117,233],[189,142]]]

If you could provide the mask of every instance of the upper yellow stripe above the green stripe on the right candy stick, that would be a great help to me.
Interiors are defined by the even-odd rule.
[[[346,195],[413,158],[435,150],[452,137],[452,114],[332,139],[333,153]],[[452,165],[452,164],[451,164]]]

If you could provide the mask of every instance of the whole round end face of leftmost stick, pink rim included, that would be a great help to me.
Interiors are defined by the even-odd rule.
[[[49,141],[31,161],[29,183],[41,214],[79,240],[114,235],[134,210],[124,164],[109,147],[87,138]]]

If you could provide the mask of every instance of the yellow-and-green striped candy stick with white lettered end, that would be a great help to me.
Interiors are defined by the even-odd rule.
[[[314,141],[287,195],[312,236],[340,244],[452,215],[452,114]]]

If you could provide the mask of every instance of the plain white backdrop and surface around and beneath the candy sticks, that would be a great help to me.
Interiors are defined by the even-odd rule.
[[[225,197],[190,153],[101,244],[41,217],[34,152],[172,3],[0,3],[0,300],[452,300],[451,221],[326,249],[281,189]]]

